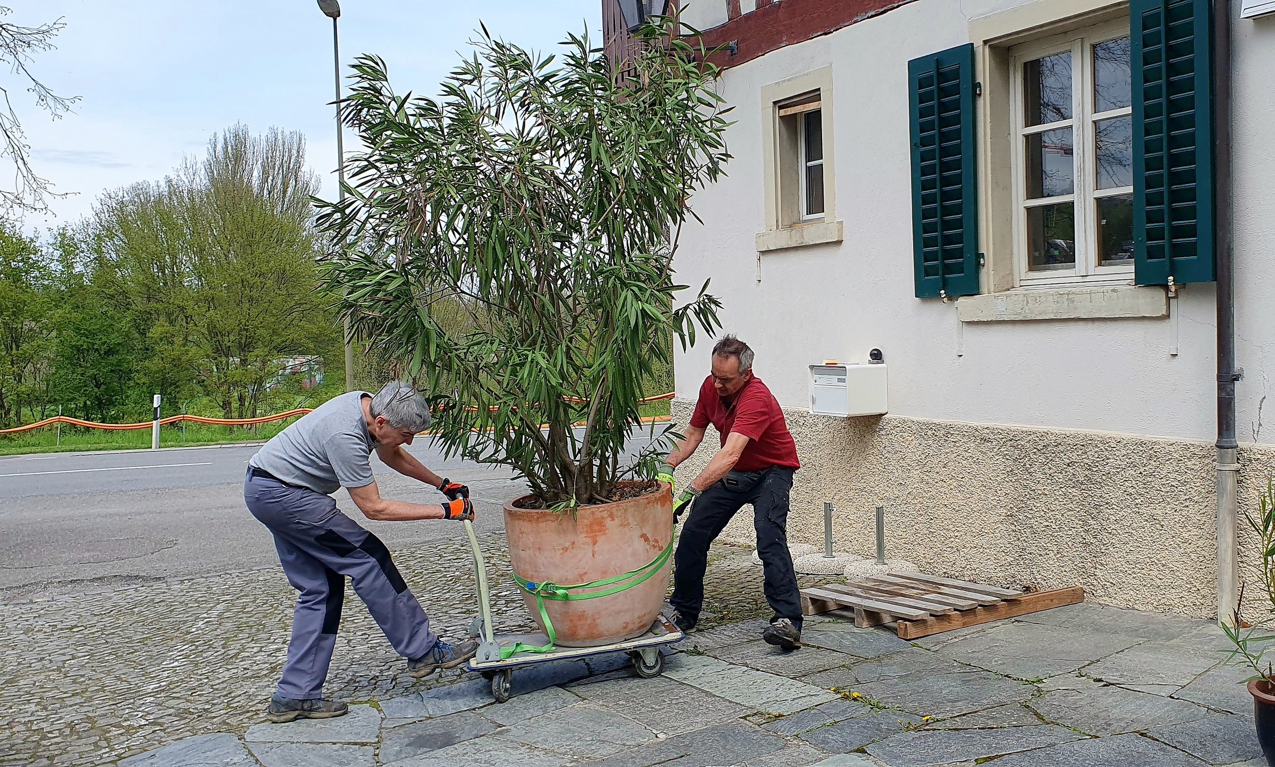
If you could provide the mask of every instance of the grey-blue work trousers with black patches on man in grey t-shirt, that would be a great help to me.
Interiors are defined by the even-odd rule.
[[[332,496],[250,470],[244,480],[244,501],[274,534],[283,572],[300,591],[279,696],[323,697],[347,576],[399,655],[417,659],[433,647],[437,637],[430,631],[430,619],[394,567],[389,549],[337,511]]]

